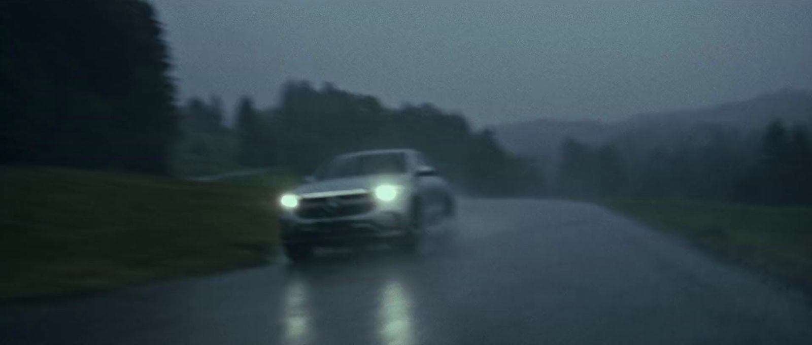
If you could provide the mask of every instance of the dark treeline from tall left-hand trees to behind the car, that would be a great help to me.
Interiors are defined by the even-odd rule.
[[[300,174],[343,152],[412,147],[463,190],[535,194],[542,177],[491,132],[431,105],[390,109],[327,84],[248,98],[235,127],[218,97],[175,108],[161,24],[145,0],[0,2],[0,164],[158,175],[279,166]],[[179,121],[180,120],[180,121]]]

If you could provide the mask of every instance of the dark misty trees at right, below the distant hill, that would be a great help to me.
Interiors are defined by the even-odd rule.
[[[812,204],[808,128],[775,121],[746,135],[714,127],[697,144],[568,139],[551,183],[559,196],[675,198],[768,205]],[[637,146],[637,147],[636,147]]]

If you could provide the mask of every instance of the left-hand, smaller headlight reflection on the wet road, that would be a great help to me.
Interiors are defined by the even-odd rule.
[[[310,327],[307,286],[300,279],[290,282],[285,287],[284,298],[284,343],[310,343],[313,330]]]

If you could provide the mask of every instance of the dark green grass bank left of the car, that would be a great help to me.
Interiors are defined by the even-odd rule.
[[[0,300],[262,263],[278,240],[274,179],[197,183],[2,168]]]

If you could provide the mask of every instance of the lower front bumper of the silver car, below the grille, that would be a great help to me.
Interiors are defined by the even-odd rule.
[[[318,219],[299,218],[287,213],[279,223],[285,245],[343,247],[386,243],[408,232],[403,213],[383,209],[349,217]]]

